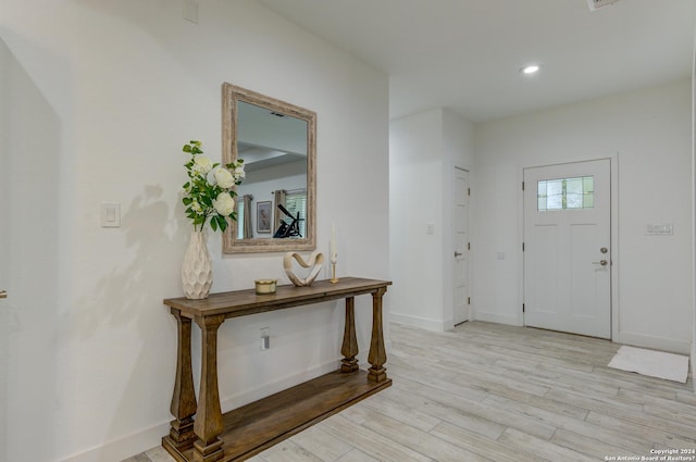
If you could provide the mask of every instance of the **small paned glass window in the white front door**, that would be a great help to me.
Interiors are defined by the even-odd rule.
[[[539,212],[594,208],[594,176],[544,179],[537,183]]]

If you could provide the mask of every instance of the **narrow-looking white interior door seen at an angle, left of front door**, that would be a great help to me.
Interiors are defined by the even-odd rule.
[[[453,320],[460,324],[469,321],[469,172],[455,167],[453,185]]]

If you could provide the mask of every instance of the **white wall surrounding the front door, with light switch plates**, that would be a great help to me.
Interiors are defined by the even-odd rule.
[[[520,176],[524,166],[618,153],[619,303],[613,339],[688,352],[692,341],[688,80],[476,125],[475,317],[522,321]],[[645,236],[650,223],[674,235]],[[505,252],[505,261],[496,260]]]

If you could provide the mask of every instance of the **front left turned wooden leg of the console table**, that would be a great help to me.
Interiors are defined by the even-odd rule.
[[[198,392],[198,412],[194,432],[198,439],[194,444],[195,462],[214,462],[223,457],[222,410],[217,389],[217,327],[225,321],[223,315],[196,316],[201,329],[201,371]]]

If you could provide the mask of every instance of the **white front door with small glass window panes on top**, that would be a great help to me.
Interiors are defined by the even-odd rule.
[[[609,159],[524,168],[524,323],[611,338]]]

